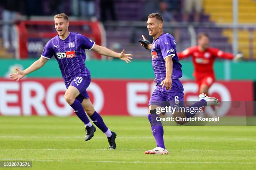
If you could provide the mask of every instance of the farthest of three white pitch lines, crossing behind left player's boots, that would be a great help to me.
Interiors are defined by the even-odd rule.
[[[83,136],[0,136],[1,138],[31,138],[31,139],[45,139],[45,138],[51,138],[51,139],[82,139]],[[103,136],[95,136],[93,138],[106,138]],[[118,136],[118,139],[154,139],[153,136]],[[212,137],[164,137],[165,139],[189,139],[189,140],[253,140],[255,141],[256,138],[230,138],[230,137],[218,137],[218,138],[212,138]]]

